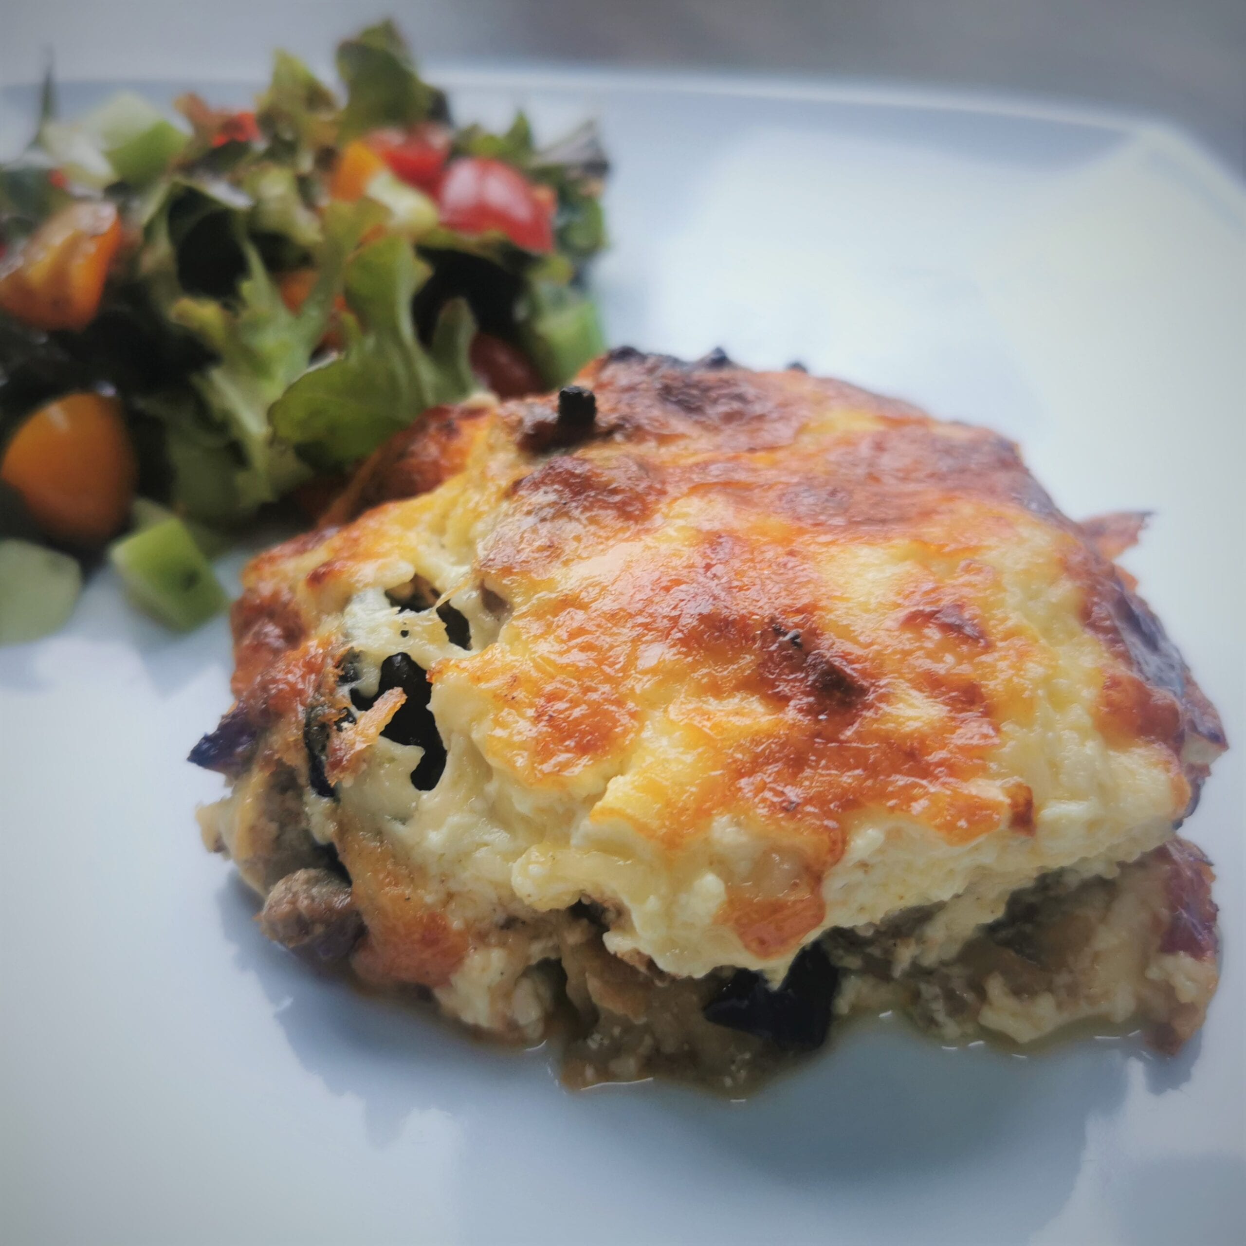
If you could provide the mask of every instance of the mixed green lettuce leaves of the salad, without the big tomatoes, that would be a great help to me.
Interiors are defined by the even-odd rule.
[[[478,388],[482,326],[551,385],[599,349],[581,289],[606,242],[592,128],[546,148],[522,113],[500,135],[454,130],[388,21],[345,40],[336,67],[340,100],[278,52],[254,113],[183,96],[177,118],[122,93],[61,120],[49,78],[35,141],[0,167],[0,244],[20,250],[78,198],[116,203],[128,240],[86,330],[0,310],[0,444],[59,389],[116,390],[142,491],[232,527]],[[450,131],[450,159],[502,161],[547,187],[554,249],[446,228],[426,187],[388,171],[335,197],[348,145],[427,125]]]

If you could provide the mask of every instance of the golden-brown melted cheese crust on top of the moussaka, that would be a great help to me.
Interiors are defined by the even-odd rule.
[[[523,449],[548,399],[439,415],[354,491],[407,491],[380,478],[401,461],[422,492],[245,572],[253,768],[307,773],[346,653],[364,685],[395,653],[432,682],[434,790],[406,782],[419,749],[376,739],[335,802],[310,797],[365,972],[447,1001],[485,981],[487,1018],[549,954],[541,915],[587,900],[638,963],[781,974],[827,927],[967,890],[998,908],[1171,834],[1214,711],[1011,444],[800,371],[617,351],[581,384],[578,446]],[[390,603],[414,577],[470,652]]]

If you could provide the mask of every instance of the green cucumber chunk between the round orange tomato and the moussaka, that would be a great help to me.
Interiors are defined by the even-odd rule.
[[[131,533],[112,546],[108,558],[135,603],[179,632],[226,606],[226,591],[178,518]]]

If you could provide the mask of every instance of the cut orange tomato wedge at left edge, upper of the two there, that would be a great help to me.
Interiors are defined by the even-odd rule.
[[[111,203],[71,203],[0,265],[0,309],[36,329],[85,329],[100,310],[120,244]]]

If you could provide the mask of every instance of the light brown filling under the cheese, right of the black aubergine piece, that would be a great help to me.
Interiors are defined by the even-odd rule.
[[[870,934],[832,932],[832,958],[847,971],[837,1011],[898,1008],[952,1042],[1033,1043],[1074,1022],[1136,1022],[1153,1047],[1175,1052],[1216,989],[1211,877],[1181,839],[1113,877],[1058,871],[1012,896],[956,956],[901,972],[913,915]]]

